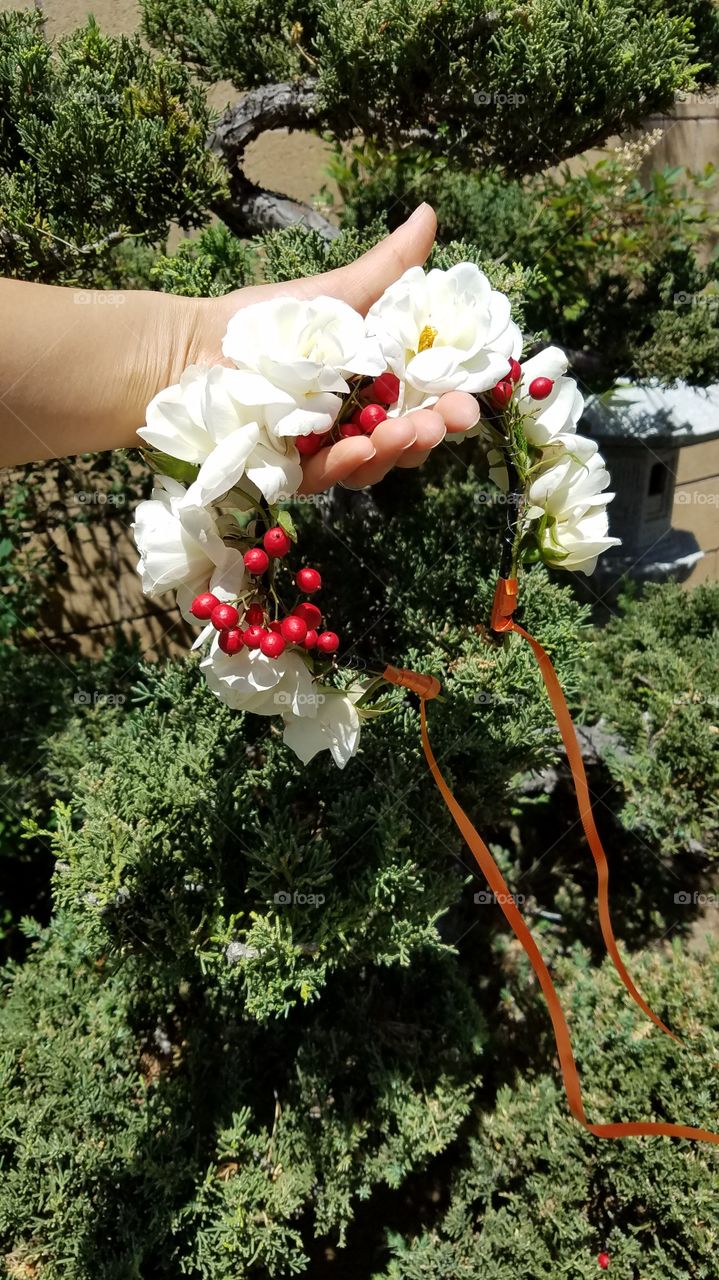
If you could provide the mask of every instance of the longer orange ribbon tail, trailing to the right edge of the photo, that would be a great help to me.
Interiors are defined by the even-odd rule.
[[[527,636],[527,639],[530,637]],[[549,658],[546,660],[549,662]],[[554,1039],[557,1042],[557,1052],[559,1055],[559,1068],[562,1071],[564,1092],[567,1094],[569,1111],[572,1112],[574,1119],[578,1120],[582,1128],[586,1129],[589,1133],[591,1133],[595,1138],[641,1138],[641,1137],[688,1138],[697,1142],[711,1142],[719,1146],[719,1133],[711,1133],[709,1129],[699,1129],[691,1125],[669,1124],[664,1121],[652,1121],[652,1120],[627,1121],[623,1124],[590,1124],[582,1102],[582,1088],[580,1083],[577,1065],[574,1062],[574,1052],[572,1048],[569,1027],[567,1024],[567,1019],[564,1016],[564,1011],[562,1009],[559,996],[557,995],[557,988],[554,987],[549,969],[522,914],[517,910],[517,906],[514,905],[514,899],[509,892],[507,882],[499,867],[496,865],[490,850],[485,845],[478,831],[473,827],[472,822],[470,820],[470,818],[467,817],[459,803],[455,800],[453,792],[450,791],[449,786],[446,785],[441,774],[441,771],[435,760],[430,745],[425,698],[421,698],[420,700],[420,714],[422,726],[422,746],[425,749],[425,755],[432,778],[435,780],[439,792],[446,808],[449,809],[449,813],[452,814],[452,818],[454,819],[463,840],[466,841],[468,849],[473,854],[490,888],[493,890],[498,900],[498,904],[502,908],[502,911],[504,913],[505,920],[512,928],[514,936],[522,943],[522,947],[527,954],[527,959],[542,989],[544,998],[546,1001],[546,1006],[549,1010],[549,1016],[551,1019],[551,1027],[554,1029]],[[578,750],[578,744],[577,744],[577,750]],[[659,1025],[663,1024],[660,1023]],[[669,1034],[672,1033],[669,1032]],[[672,1038],[676,1039],[677,1037]]]

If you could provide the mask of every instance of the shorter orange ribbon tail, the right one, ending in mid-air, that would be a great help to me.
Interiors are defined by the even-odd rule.
[[[601,936],[604,938],[604,945],[606,947],[608,955],[619,974],[624,987],[629,992],[629,996],[636,1005],[651,1018],[651,1021],[659,1027],[665,1036],[670,1036],[673,1041],[678,1044],[682,1043],[678,1036],[667,1027],[661,1019],[650,1009],[646,1000],[641,992],[635,986],[622,956],[619,955],[619,948],[617,946],[617,940],[614,937],[614,929],[612,928],[612,916],[609,911],[609,863],[606,860],[606,854],[601,840],[599,838],[599,832],[596,829],[596,823],[594,820],[594,813],[590,799],[590,788],[587,783],[587,776],[585,771],[585,762],[582,759],[582,751],[580,748],[580,741],[577,739],[577,731],[567,705],[567,699],[564,698],[564,691],[559,684],[559,677],[554,669],[551,659],[545,649],[525,631],[517,622],[512,621],[508,630],[516,631],[517,635],[523,636],[525,640],[531,645],[537,666],[544,680],[557,723],[559,726],[559,732],[562,733],[562,741],[564,742],[564,750],[567,751],[567,760],[569,762],[569,768],[572,771],[572,778],[574,782],[574,792],[577,796],[577,804],[580,809],[580,818],[587,838],[587,845],[590,846],[591,855],[596,867],[596,890],[597,890],[597,908],[599,908],[599,923],[601,928]]]

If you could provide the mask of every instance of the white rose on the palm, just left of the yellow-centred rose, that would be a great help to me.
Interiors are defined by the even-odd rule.
[[[252,371],[285,394],[267,401],[267,420],[278,435],[329,431],[342,407],[345,374],[381,374],[377,343],[365,320],[339,298],[271,298],[234,315],[223,352],[238,369]]]

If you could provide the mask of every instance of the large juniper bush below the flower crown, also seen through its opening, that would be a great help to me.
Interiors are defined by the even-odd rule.
[[[422,504],[415,477],[389,559],[389,488],[370,522],[293,515],[358,655],[443,673],[435,749],[491,820],[557,737],[540,698],[516,714],[527,654],[472,630],[496,543],[493,518],[462,541],[477,481],[453,458]],[[542,572],[526,600],[572,686],[582,609]],[[304,1274],[315,1235],[342,1242],[360,1201],[454,1139],[486,1041],[450,950],[467,863],[416,710],[398,699],[344,773],[303,769],[189,660],[72,721],[46,774],[70,800],[43,836],[55,919],[0,1015],[6,1253],[49,1280]]]

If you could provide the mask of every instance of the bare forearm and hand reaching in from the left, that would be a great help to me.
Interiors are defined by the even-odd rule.
[[[137,444],[145,408],[187,365],[229,364],[221,340],[241,307],[288,294],[342,298],[362,315],[432,247],[429,205],[351,266],[221,298],[147,291],[110,293],[0,280],[0,465]],[[303,460],[302,493],[342,483],[361,489],[391,467],[421,466],[448,431],[466,431],[478,406],[463,392],[340,440]]]

